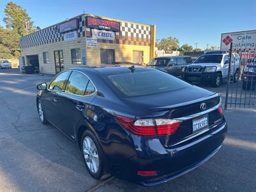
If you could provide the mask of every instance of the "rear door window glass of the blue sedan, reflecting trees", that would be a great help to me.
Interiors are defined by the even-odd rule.
[[[72,93],[74,95],[84,95],[88,81],[88,77],[84,74],[74,71],[68,79],[65,92]]]

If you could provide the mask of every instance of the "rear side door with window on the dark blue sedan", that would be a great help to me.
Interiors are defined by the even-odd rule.
[[[74,138],[77,122],[86,115],[88,105],[96,96],[92,81],[83,72],[72,71],[65,92],[61,93],[60,127],[67,136]]]

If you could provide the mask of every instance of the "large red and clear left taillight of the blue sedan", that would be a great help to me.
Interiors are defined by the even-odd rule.
[[[116,116],[116,120],[130,132],[140,136],[157,136],[172,134],[182,123],[179,120],[156,118],[138,119]]]

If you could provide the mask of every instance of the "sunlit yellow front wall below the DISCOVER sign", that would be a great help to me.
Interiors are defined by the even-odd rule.
[[[133,51],[143,51],[143,63],[150,60],[150,46],[98,43],[97,47],[87,47],[87,65],[100,64],[100,48],[115,49],[115,61],[133,61]]]

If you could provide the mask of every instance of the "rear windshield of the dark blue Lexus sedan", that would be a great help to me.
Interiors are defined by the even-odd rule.
[[[190,84],[159,70],[131,72],[108,76],[114,89],[125,97],[138,97],[171,92],[191,86]]]

